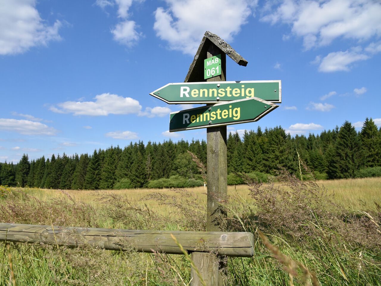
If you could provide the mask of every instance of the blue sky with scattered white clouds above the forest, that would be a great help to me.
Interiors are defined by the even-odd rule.
[[[205,139],[169,133],[190,106],[149,93],[184,81],[207,30],[248,61],[227,80],[282,80],[279,108],[228,131],[381,126],[379,0],[1,0],[0,162]]]

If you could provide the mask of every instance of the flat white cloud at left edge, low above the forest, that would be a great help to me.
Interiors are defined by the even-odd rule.
[[[17,132],[24,135],[56,135],[53,127],[29,120],[0,118],[0,130]]]

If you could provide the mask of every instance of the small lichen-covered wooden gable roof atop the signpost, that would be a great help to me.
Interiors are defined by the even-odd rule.
[[[207,58],[207,52],[210,44],[216,45],[223,53],[228,55],[233,61],[240,66],[246,66],[247,60],[244,59],[239,53],[237,53],[231,45],[221,39],[218,35],[206,31],[204,37],[201,40],[199,49],[189,67],[187,76],[184,82],[203,82],[204,79],[204,59]]]

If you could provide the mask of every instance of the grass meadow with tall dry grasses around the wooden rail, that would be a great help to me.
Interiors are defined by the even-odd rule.
[[[381,178],[228,186],[229,231],[255,235],[228,285],[381,285]],[[0,222],[205,231],[206,190],[0,188]],[[263,234],[263,235],[262,235]],[[0,286],[189,285],[184,255],[0,242]]]

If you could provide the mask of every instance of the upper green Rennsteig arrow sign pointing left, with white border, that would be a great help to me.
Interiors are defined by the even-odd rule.
[[[233,101],[258,97],[272,103],[280,103],[280,80],[252,80],[237,82],[182,82],[167,84],[150,95],[166,103],[207,103]]]

